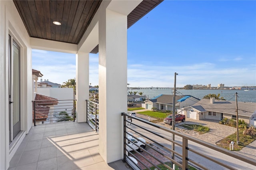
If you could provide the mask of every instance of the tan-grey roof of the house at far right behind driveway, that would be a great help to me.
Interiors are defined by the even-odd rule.
[[[210,103],[210,99],[201,99],[192,107],[202,106],[206,111],[215,111],[219,113],[236,114],[236,101],[215,101]],[[252,102],[237,102],[238,115],[252,116],[256,114],[256,103]]]

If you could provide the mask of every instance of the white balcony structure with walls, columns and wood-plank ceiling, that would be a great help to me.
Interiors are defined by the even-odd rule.
[[[106,163],[122,159],[127,28],[161,2],[0,0],[1,170],[32,127],[32,49],[76,54],[77,123],[86,121],[89,53],[99,53],[99,152]]]

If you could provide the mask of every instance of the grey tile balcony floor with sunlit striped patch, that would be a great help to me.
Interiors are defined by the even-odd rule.
[[[10,161],[8,170],[126,170],[122,160],[106,164],[99,136],[87,123],[32,127]]]

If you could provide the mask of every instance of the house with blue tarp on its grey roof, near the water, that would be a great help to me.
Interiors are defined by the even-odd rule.
[[[173,95],[158,95],[152,99],[145,100],[142,107],[148,110],[155,107],[157,110],[161,111],[172,111],[172,107],[175,105],[175,110],[177,111],[177,109],[192,106],[198,101],[200,101],[200,99],[191,95],[181,95],[176,96],[174,103]]]

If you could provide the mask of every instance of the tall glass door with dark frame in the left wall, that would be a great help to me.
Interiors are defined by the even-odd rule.
[[[9,35],[9,139],[20,132],[20,47]]]

